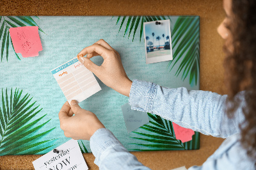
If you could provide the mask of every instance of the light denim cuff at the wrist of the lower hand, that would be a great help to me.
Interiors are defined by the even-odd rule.
[[[113,146],[123,146],[107,128],[99,128],[90,138],[90,148],[95,157],[94,163],[99,166],[102,153]]]

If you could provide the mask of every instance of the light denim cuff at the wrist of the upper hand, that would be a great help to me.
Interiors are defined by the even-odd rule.
[[[146,81],[132,81],[129,95],[129,105],[131,109],[150,112],[156,96],[156,84]]]

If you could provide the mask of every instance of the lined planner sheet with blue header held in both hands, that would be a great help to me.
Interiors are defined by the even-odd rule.
[[[84,99],[100,91],[100,85],[90,70],[77,58],[71,59],[51,70],[68,103],[71,100],[82,102]]]

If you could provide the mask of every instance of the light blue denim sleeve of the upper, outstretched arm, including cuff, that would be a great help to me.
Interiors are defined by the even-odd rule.
[[[243,96],[243,91],[239,96]],[[205,135],[226,138],[237,134],[243,122],[242,108],[232,119],[225,114],[227,95],[186,88],[164,88],[152,82],[134,80],[129,104],[132,109],[157,114],[184,128]],[[243,102],[243,100],[242,100]]]

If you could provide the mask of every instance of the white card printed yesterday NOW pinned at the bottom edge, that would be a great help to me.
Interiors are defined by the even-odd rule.
[[[88,169],[84,157],[76,140],[71,139],[67,143],[61,144],[56,150],[59,153],[50,151],[44,156],[33,161],[36,170],[72,170]]]

